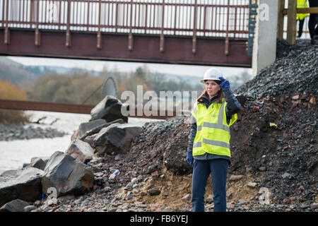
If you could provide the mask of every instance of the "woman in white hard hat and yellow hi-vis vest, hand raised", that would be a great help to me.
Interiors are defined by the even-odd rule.
[[[226,178],[230,164],[230,126],[241,105],[218,69],[204,73],[204,92],[194,103],[187,161],[193,165],[192,210],[204,211],[206,181],[211,173],[215,212],[226,211]]]

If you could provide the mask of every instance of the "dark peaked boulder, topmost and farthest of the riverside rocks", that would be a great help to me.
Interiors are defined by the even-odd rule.
[[[122,105],[122,102],[116,97],[107,95],[90,111],[90,115],[92,116],[90,121],[105,119],[107,122],[110,122],[116,119],[123,119],[125,122],[128,122],[128,117],[122,114]]]

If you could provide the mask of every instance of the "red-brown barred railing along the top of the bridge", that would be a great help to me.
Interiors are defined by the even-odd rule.
[[[0,0],[0,28],[247,38],[248,0]]]

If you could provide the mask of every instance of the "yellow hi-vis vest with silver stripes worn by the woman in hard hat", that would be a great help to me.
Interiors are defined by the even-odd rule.
[[[200,102],[194,104],[192,116],[197,125],[192,149],[194,156],[211,153],[230,157],[230,126],[236,121],[237,114],[232,115],[228,124],[226,105],[224,98],[222,103],[213,102],[208,109]]]

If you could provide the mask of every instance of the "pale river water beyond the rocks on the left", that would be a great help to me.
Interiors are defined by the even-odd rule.
[[[71,144],[73,131],[78,129],[79,124],[90,119],[89,114],[73,114],[60,112],[35,112],[27,111],[31,114],[31,121],[40,121],[41,124],[28,124],[39,126],[42,129],[51,127],[66,133],[58,138],[35,138],[30,140],[0,141],[0,174],[8,169],[20,169],[23,163],[30,163],[32,157],[49,157],[56,151],[65,152]],[[52,126],[53,121],[58,119]],[[128,122],[143,125],[147,121],[162,121],[160,119],[141,119],[129,117]],[[44,124],[44,125],[42,125]]]

